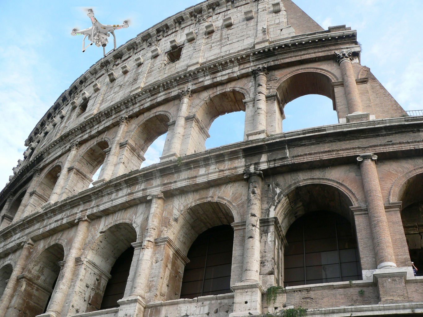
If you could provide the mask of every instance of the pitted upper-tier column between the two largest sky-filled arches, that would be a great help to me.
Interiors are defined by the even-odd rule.
[[[247,138],[259,139],[269,136],[266,130],[267,68],[257,68],[253,74],[255,76],[254,131],[248,133]]]

